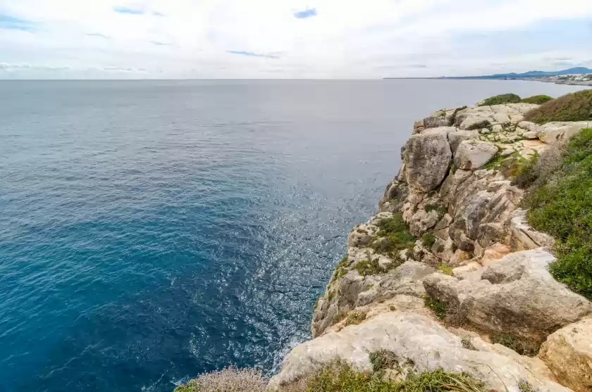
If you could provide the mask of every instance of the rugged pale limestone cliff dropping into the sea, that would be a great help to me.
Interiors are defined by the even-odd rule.
[[[369,353],[390,350],[419,371],[469,372],[498,390],[592,390],[592,303],[549,274],[554,239],[526,223],[512,182],[592,123],[523,121],[535,107],[453,108],[415,123],[378,214],[352,229],[315,305],[314,339],[271,387],[335,358],[371,370]]]

